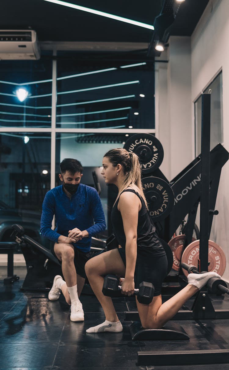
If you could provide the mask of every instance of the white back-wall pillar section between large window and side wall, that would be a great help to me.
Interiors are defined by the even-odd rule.
[[[155,121],[164,148],[161,171],[170,181],[193,159],[194,125],[191,119],[191,40],[170,37],[168,55],[156,63]]]

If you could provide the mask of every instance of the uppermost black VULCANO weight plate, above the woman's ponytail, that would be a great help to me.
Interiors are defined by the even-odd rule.
[[[164,150],[160,141],[151,134],[136,134],[125,142],[123,147],[129,153],[136,153],[143,174],[157,169],[164,158]]]

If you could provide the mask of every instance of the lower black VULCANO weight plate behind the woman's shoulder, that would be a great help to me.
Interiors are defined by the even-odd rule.
[[[145,177],[141,182],[153,222],[164,220],[174,205],[170,185],[159,177]]]

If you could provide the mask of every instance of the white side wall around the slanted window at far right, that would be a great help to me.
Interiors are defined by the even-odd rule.
[[[209,1],[191,37],[192,101],[222,68],[223,78],[223,144],[229,151],[229,1]],[[192,110],[192,117],[194,112]],[[229,163],[221,172],[216,209],[210,239],[221,246],[226,255],[223,278],[229,281]]]

